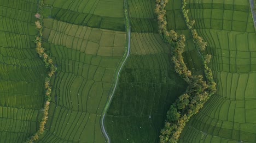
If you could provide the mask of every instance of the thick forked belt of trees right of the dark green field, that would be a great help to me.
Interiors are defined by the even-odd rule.
[[[178,35],[174,30],[167,31],[166,28],[166,10],[165,6],[167,0],[156,0],[155,13],[158,15],[159,33],[162,38],[171,43],[172,45],[172,62],[174,63],[175,70],[181,76],[185,82],[187,82],[188,88],[186,92],[179,96],[179,98],[171,105],[167,112],[167,120],[164,128],[161,130],[160,142],[177,142],[185,124],[189,121],[190,117],[198,113],[203,107],[203,104],[210,98],[216,91],[216,83],[213,80],[212,71],[208,67],[207,63],[210,63],[211,55],[206,55],[205,58],[202,55],[205,77],[207,82],[203,80],[202,75],[193,75],[188,67],[185,65],[182,53],[185,48],[185,36]],[[193,29],[195,21],[189,21],[188,10],[185,9],[185,1],[183,0],[182,12],[184,14],[185,21],[191,32],[195,34],[193,36],[196,46],[203,51],[207,43],[197,35],[196,30]]]

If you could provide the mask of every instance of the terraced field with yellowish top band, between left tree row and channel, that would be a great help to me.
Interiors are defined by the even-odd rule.
[[[125,32],[45,18],[43,41],[59,71],[38,142],[105,142],[100,118],[125,51]]]

